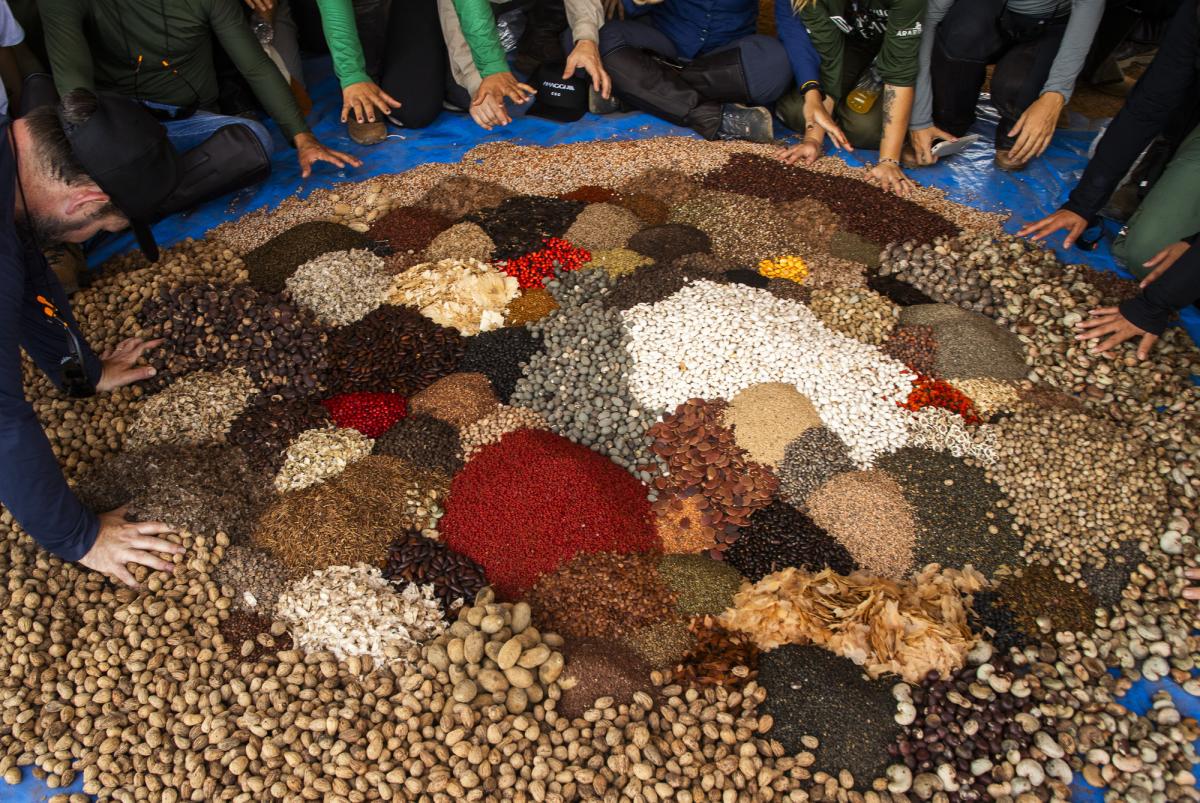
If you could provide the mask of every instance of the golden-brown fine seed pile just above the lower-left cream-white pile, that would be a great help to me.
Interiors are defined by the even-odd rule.
[[[421,475],[395,457],[370,456],[325,483],[287,493],[258,519],[251,534],[292,576],[313,569],[380,563],[396,533],[420,529],[406,490]]]

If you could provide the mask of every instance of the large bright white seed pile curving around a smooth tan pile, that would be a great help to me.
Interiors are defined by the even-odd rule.
[[[908,442],[913,374],[878,349],[830,331],[803,304],[740,284],[700,281],[624,313],[642,405],[674,409],[689,398],[732,398],[762,382],[809,397],[826,426],[869,467]]]

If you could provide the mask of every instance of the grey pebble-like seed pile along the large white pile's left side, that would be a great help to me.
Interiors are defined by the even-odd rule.
[[[584,270],[547,284],[559,308],[532,324],[542,350],[529,359],[510,401],[541,413],[553,432],[649,483],[655,461],[646,432],[655,417],[629,390],[631,358],[620,313],[598,298],[608,281],[600,271]]]

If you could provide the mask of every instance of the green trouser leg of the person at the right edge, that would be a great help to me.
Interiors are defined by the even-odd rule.
[[[1200,126],[1192,130],[1150,194],[1129,218],[1112,253],[1139,278],[1146,260],[1172,242],[1200,232]]]

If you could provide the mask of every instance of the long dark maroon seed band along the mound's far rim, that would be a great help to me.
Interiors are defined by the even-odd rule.
[[[725,167],[704,176],[704,187],[774,202],[815,198],[838,215],[844,229],[881,245],[932,242],[959,232],[944,217],[869,184],[851,186],[840,176],[750,154],[734,154]]]

